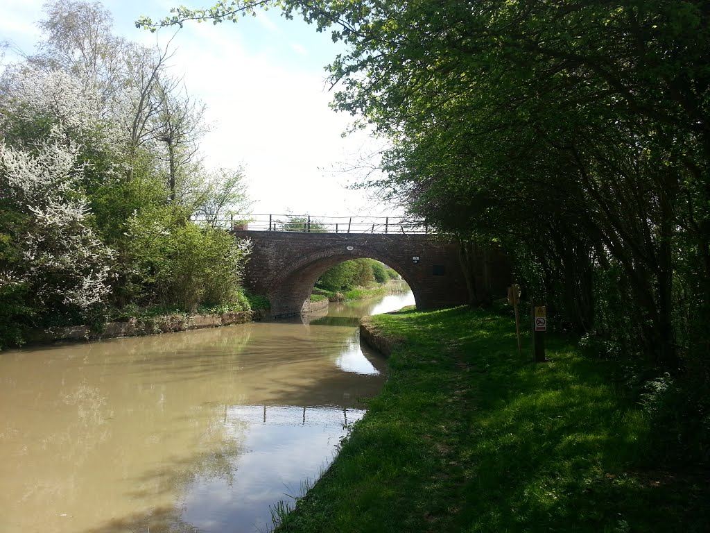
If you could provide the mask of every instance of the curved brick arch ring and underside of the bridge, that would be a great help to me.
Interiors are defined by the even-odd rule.
[[[273,315],[293,312],[294,308],[300,308],[302,312],[308,311],[310,294],[320,275],[332,266],[351,259],[375,259],[390,266],[410,286],[417,306],[420,305],[422,289],[414,276],[403,264],[400,264],[398,259],[381,254],[377,250],[355,246],[351,250],[343,252],[341,245],[318,249],[275,273],[266,291]]]

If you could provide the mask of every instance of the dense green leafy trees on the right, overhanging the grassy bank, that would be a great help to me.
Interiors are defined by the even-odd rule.
[[[694,328],[674,323],[689,291],[710,320],[706,2],[240,0],[162,23],[274,4],[348,45],[330,65],[334,107],[390,142],[383,194],[464,250],[515,249],[579,330],[628,333],[660,367],[710,375],[710,335],[688,338],[682,363],[675,335]],[[624,314],[609,314],[607,276],[633,302]]]

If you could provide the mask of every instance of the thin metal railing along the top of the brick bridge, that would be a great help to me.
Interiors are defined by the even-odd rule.
[[[192,220],[231,231],[310,233],[429,233],[422,220],[409,217],[321,217],[315,215],[194,215]]]

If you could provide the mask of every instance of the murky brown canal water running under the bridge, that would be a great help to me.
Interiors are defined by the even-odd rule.
[[[356,317],[413,303],[0,352],[0,532],[269,530],[386,379]]]

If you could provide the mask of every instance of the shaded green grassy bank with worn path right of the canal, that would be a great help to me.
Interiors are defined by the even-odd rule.
[[[706,532],[707,475],[662,464],[613,362],[559,338],[519,357],[507,316],[372,318],[390,379],[278,532]]]

